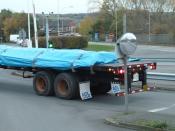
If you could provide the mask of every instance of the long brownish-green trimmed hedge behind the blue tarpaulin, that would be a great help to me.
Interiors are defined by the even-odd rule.
[[[34,39],[32,43],[34,43]],[[52,43],[53,48],[56,49],[82,49],[88,46],[88,40],[83,36],[51,36],[49,43]],[[46,38],[38,37],[38,44],[40,48],[46,48]]]

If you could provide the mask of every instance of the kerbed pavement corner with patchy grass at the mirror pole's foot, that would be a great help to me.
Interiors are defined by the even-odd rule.
[[[117,113],[105,119],[105,123],[139,131],[175,131],[175,116],[151,112]],[[158,128],[167,124],[167,128]]]

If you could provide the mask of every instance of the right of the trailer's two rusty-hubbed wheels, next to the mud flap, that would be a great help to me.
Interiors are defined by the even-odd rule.
[[[71,73],[58,74],[54,82],[55,95],[62,99],[75,99],[78,97],[78,79]]]

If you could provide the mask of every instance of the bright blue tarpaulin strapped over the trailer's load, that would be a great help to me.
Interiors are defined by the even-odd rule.
[[[95,64],[116,63],[113,52],[80,49],[18,48],[0,46],[0,65],[12,67],[40,67],[67,70]],[[130,61],[137,60],[132,59]]]

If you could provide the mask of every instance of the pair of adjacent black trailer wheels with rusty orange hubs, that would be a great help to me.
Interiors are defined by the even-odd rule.
[[[62,99],[75,99],[78,97],[78,79],[72,73],[60,73],[41,71],[37,72],[33,79],[33,87],[38,95],[55,95]]]

